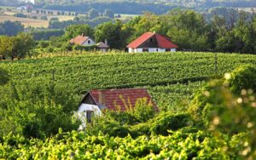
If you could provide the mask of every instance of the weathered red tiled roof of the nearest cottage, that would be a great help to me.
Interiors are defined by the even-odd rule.
[[[137,99],[147,98],[152,102],[154,110],[158,111],[158,107],[155,105],[154,101],[151,99],[150,94],[148,94],[147,89],[106,89],[106,90],[90,90],[90,94],[93,96],[96,103],[100,103],[107,107],[109,110],[116,111],[120,106],[120,111],[125,111],[125,103],[128,105],[128,100],[131,102],[131,106],[135,106]],[[100,102],[100,96],[102,96],[102,102]],[[120,96],[122,98],[120,98]],[[123,99],[123,100],[122,100]]]

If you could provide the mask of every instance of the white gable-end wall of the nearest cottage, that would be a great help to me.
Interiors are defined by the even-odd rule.
[[[82,122],[79,126],[79,129],[84,129],[86,127],[86,111],[94,111],[95,116],[101,116],[102,111],[98,106],[82,104],[79,106],[79,111],[76,111],[75,115],[79,117],[79,120]]]

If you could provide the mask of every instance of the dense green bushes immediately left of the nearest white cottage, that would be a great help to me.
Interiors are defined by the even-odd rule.
[[[77,129],[73,121],[78,97],[64,86],[46,83],[9,83],[0,89],[0,136],[12,132],[42,138]]]

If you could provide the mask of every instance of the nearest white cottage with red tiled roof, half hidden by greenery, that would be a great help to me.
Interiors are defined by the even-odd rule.
[[[125,111],[125,103],[135,106],[137,99],[147,98],[148,103],[151,102],[154,110],[158,111],[158,107],[151,99],[147,89],[106,89],[106,90],[90,90],[84,95],[79,106],[79,116],[86,117],[87,123],[91,122],[93,115],[100,116],[102,110],[108,109],[112,111]],[[125,103],[124,103],[125,100]],[[82,128],[85,123],[82,120]]]

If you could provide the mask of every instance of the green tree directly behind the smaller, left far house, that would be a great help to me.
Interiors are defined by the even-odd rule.
[[[89,25],[73,25],[67,26],[65,29],[65,37],[67,40],[82,34],[84,34],[84,36],[94,37],[94,29]]]

